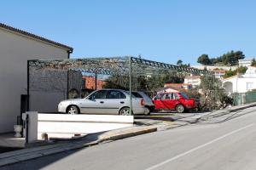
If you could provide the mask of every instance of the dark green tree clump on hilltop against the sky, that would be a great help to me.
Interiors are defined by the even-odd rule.
[[[202,65],[238,65],[238,59],[244,59],[245,55],[241,51],[233,50],[216,58],[209,58],[207,54],[201,54],[197,62]]]

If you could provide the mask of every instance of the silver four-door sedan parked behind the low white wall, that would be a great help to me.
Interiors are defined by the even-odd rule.
[[[144,99],[132,96],[132,113],[144,114]],[[67,114],[130,115],[130,94],[120,89],[96,90],[84,99],[67,99],[58,105],[58,111]]]

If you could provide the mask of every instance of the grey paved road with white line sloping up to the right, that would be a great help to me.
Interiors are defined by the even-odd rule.
[[[0,169],[253,170],[256,108],[242,112],[227,122],[148,133]]]

